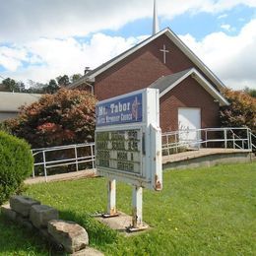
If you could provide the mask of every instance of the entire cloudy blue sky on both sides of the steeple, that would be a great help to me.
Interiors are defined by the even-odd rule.
[[[256,0],[157,2],[160,29],[228,87],[256,88]],[[24,82],[83,73],[152,33],[153,0],[9,0],[1,9],[0,75]]]

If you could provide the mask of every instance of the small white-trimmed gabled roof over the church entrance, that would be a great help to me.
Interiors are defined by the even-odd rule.
[[[195,68],[160,77],[160,79],[150,85],[150,88],[159,89],[160,96],[164,96],[189,76],[195,79],[211,96],[218,100],[221,105],[229,104],[224,96],[222,96]]]

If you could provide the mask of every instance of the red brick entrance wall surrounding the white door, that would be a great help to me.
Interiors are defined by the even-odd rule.
[[[160,128],[162,132],[178,129],[178,107],[199,107],[201,128],[219,127],[219,103],[193,78],[188,77],[160,97]]]

